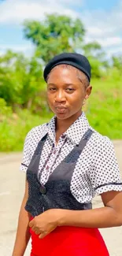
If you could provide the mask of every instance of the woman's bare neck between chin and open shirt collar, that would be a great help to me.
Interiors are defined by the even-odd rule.
[[[68,130],[68,128],[76,121],[78,117],[81,116],[82,110],[73,115],[72,117],[68,117],[67,119],[56,119],[56,132],[62,134]]]

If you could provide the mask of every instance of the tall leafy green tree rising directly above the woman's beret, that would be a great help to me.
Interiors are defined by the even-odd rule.
[[[24,22],[24,35],[36,46],[36,55],[45,63],[62,52],[82,52],[91,61],[92,76],[101,77],[108,67],[105,53],[97,42],[84,43],[85,28],[79,19],[47,15],[42,22]]]

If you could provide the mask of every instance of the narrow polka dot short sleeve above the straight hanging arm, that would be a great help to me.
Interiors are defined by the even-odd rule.
[[[28,165],[31,161],[30,143],[31,143],[31,132],[28,132],[28,135],[24,140],[23,159],[20,164],[20,171],[23,171],[23,172],[27,171]]]

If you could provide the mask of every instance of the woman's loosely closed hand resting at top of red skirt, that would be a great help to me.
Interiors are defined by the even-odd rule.
[[[29,227],[39,238],[42,239],[46,235],[50,234],[55,228],[57,228],[58,221],[61,218],[63,210],[61,209],[50,209],[46,212],[36,216],[32,221],[29,222]]]

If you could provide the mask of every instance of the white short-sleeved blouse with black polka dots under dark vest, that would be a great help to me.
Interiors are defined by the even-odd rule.
[[[63,133],[56,145],[55,118],[49,123],[32,128],[24,142],[24,157],[20,169],[28,169],[39,140],[46,133],[46,142],[39,162],[40,183],[46,184],[51,173],[61,161],[79,144],[88,128],[91,128],[84,113]],[[93,128],[91,130],[94,131]],[[120,170],[116,162],[113,144],[108,137],[94,131],[86,147],[79,155],[70,189],[78,202],[91,202],[94,195],[106,191],[122,191]]]

